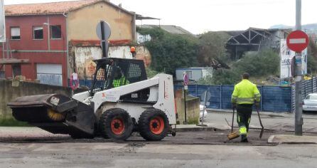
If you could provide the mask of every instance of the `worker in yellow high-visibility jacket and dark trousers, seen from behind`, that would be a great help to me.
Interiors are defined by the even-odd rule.
[[[237,109],[237,123],[239,125],[241,142],[248,142],[247,132],[249,131],[252,106],[255,103],[259,107],[260,99],[261,95],[257,89],[257,85],[249,81],[249,73],[243,73],[242,81],[235,85],[231,98],[232,107]]]

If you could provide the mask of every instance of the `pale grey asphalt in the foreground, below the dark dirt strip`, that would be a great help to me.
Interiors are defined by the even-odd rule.
[[[0,144],[0,167],[316,167],[317,145]]]

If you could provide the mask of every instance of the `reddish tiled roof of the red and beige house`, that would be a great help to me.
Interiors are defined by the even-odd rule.
[[[61,1],[40,4],[16,4],[4,6],[6,16],[41,15],[41,14],[64,14],[75,9],[80,9],[98,1],[107,2],[109,5],[122,9],[107,0],[81,0],[81,1]],[[125,9],[122,9],[126,11]],[[126,11],[130,13],[129,11]]]

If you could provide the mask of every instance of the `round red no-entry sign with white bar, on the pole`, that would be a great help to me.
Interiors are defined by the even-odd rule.
[[[308,36],[303,31],[292,31],[287,36],[286,43],[291,51],[301,52],[308,46]]]

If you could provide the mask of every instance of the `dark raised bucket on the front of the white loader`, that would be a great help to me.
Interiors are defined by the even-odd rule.
[[[92,137],[95,113],[92,107],[65,95],[31,95],[16,98],[8,106],[18,121],[28,122],[54,134]]]

